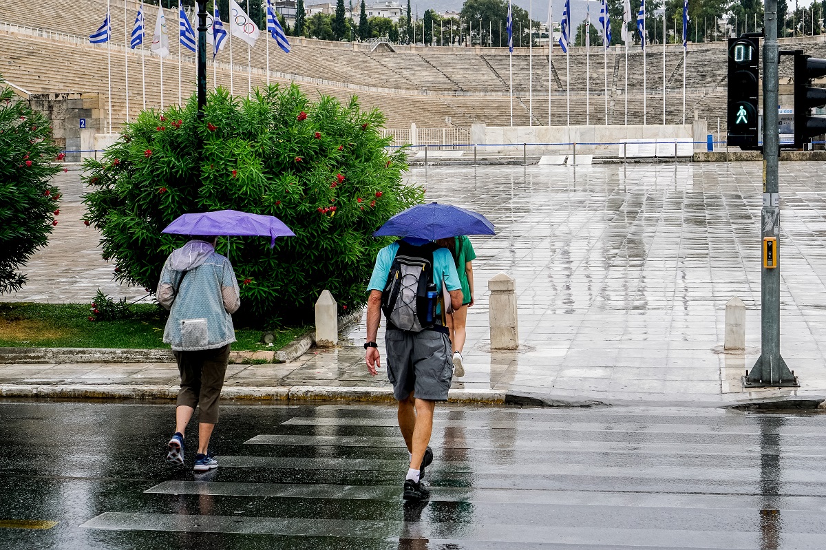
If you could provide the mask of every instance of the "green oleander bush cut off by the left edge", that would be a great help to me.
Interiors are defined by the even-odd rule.
[[[4,84],[0,76],[0,294],[26,284],[21,268],[58,223],[60,192],[50,180],[63,158],[49,119]]]

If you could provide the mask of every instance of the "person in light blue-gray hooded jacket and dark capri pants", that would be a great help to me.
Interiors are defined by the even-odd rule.
[[[192,236],[169,254],[157,292],[159,304],[169,310],[164,343],[172,346],[181,374],[175,434],[167,443],[166,460],[183,465],[187,425],[200,406],[196,472],[218,467],[209,441],[218,422],[230,344],[235,342],[231,314],[241,305],[235,271],[230,260],[215,251],[216,240]]]

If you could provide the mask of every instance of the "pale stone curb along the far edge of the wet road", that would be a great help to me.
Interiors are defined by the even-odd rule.
[[[0,384],[0,397],[35,399],[141,399],[174,400],[178,386],[123,386],[118,384]],[[360,386],[224,386],[221,400],[242,401],[360,401],[393,403],[389,387]],[[504,391],[451,390],[449,402],[504,405]]]

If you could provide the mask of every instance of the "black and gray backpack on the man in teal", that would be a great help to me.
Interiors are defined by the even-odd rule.
[[[436,292],[433,253],[439,246],[399,241],[396,258],[382,292],[382,311],[388,327],[408,332],[432,329],[436,324]]]

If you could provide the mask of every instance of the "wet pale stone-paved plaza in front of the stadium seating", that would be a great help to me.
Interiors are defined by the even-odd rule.
[[[760,344],[761,169],[760,163],[413,168],[410,182],[425,187],[430,200],[481,211],[497,229],[495,237],[472,238],[477,304],[468,315],[467,374],[454,387],[567,401],[707,405],[826,395],[822,163],[781,164],[781,349],[802,386],[741,388]],[[96,257],[97,235],[77,221],[83,211],[77,178],[69,173],[59,180],[69,183],[61,224],[30,263],[30,285],[5,300],[86,301],[106,285],[117,294],[111,266]],[[514,353],[491,353],[489,343],[487,280],[501,272],[516,279],[521,345]],[[724,306],[732,296],[748,308],[745,353],[722,353]],[[364,375],[363,334],[363,325],[356,326],[339,348],[269,366],[263,376],[267,366],[249,368],[273,386],[387,386],[383,374]],[[177,371],[169,368],[174,380]]]

